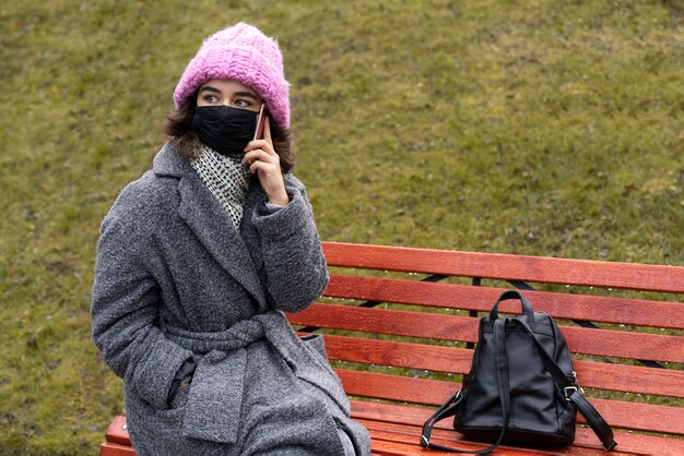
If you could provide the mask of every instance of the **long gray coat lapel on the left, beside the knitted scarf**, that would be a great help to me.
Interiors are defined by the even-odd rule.
[[[167,144],[155,157],[154,171],[161,176],[180,178],[178,215],[212,256],[255,297],[260,305],[264,305],[266,297],[257,267],[245,241],[233,227],[221,203],[207,189],[190,164]],[[250,213],[246,207],[244,217],[249,216]],[[245,221],[243,220],[243,225]]]

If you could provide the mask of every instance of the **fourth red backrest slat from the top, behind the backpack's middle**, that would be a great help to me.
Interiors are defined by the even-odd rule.
[[[333,360],[438,372],[468,373],[472,350],[326,335],[328,357]],[[684,371],[574,361],[578,382],[585,387],[684,397]]]

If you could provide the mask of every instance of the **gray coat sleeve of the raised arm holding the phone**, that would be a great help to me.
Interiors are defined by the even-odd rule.
[[[329,275],[304,185],[287,175],[285,190],[290,204],[278,209],[257,205],[252,224],[261,237],[271,304],[296,312],[322,295]]]

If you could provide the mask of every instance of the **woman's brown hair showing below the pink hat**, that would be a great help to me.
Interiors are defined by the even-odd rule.
[[[179,108],[173,108],[164,120],[164,134],[180,152],[185,158],[193,160],[199,156],[200,139],[192,130],[192,118],[197,106],[197,92],[188,101]],[[290,129],[282,129],[278,123],[269,119],[273,148],[280,157],[280,167],[283,173],[287,173],[294,168],[297,158],[293,149],[293,134]]]

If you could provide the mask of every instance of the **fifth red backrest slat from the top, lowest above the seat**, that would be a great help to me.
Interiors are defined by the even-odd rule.
[[[344,391],[353,396],[439,406],[460,388],[458,383],[435,380],[344,369],[337,372]],[[684,408],[597,398],[590,400],[612,427],[684,435]],[[581,417],[579,420],[582,421]]]

